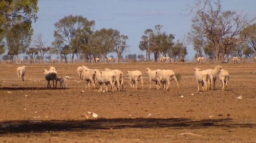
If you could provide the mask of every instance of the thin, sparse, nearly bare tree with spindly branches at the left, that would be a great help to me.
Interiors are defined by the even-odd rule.
[[[46,47],[44,41],[42,41],[42,34],[38,34],[35,36],[34,46],[36,47],[37,51],[40,53],[40,63],[44,63],[45,54],[51,49],[51,47]]]

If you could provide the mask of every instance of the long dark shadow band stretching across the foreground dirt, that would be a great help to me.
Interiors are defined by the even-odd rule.
[[[10,133],[44,131],[82,131],[123,128],[254,128],[255,124],[240,124],[231,119],[191,120],[170,119],[95,119],[95,120],[54,120],[54,121],[6,121],[0,122],[0,135]]]

